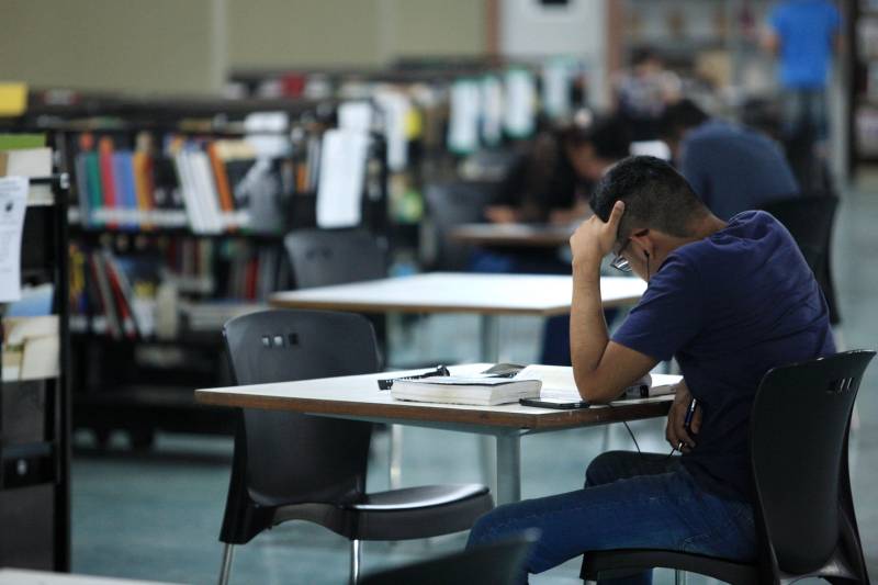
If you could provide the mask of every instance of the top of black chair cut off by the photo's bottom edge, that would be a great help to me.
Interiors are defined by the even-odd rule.
[[[362,585],[514,585],[536,535],[494,542],[419,563],[364,575]]]

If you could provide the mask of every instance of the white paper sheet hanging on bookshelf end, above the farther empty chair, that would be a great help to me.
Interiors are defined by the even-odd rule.
[[[317,226],[360,224],[369,136],[359,131],[324,133],[317,187]]]

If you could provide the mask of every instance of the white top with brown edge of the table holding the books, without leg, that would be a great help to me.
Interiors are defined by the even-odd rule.
[[[453,375],[468,375],[484,371],[488,363],[451,367]],[[570,369],[569,369],[570,370]],[[335,415],[348,418],[381,419],[407,424],[434,423],[479,427],[514,427],[522,429],[566,428],[596,425],[616,420],[631,420],[663,416],[673,396],[619,401],[612,407],[595,405],[590,408],[559,410],[534,408],[519,404],[473,406],[397,401],[389,391],[378,387],[378,380],[421,373],[424,370],[383,372],[340,378],[323,378],[274,384],[254,384],[202,389],[195,400],[204,404],[290,410],[305,414]],[[570,379],[573,379],[571,370]],[[674,378],[673,381],[678,380]],[[662,380],[660,383],[668,383]]]

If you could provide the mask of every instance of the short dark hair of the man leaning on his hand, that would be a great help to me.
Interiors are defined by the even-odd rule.
[[[619,200],[624,202],[619,241],[635,227],[686,237],[693,220],[709,213],[674,167],[649,156],[628,157],[612,166],[592,193],[592,210],[606,222]]]

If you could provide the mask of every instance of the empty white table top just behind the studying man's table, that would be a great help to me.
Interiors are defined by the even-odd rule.
[[[562,315],[570,312],[573,279],[554,274],[430,272],[334,286],[279,292],[274,306],[359,313],[479,313]],[[637,303],[646,283],[603,277],[604,306]]]

